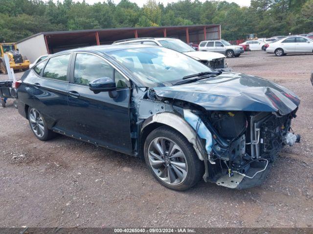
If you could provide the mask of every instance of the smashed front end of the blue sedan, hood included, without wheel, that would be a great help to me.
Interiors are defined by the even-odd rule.
[[[245,189],[263,182],[284,146],[300,141],[291,129],[300,100],[289,90],[259,78],[254,79],[259,84],[252,88],[254,95],[242,89],[235,93],[238,85],[227,95],[215,93],[224,79],[215,80],[218,86],[212,81],[199,82],[202,85],[194,89],[193,84],[149,89],[136,101],[136,113],[141,133],[158,123],[185,136],[204,163],[206,182]],[[251,79],[237,81],[242,85]],[[221,100],[225,104],[218,106]]]

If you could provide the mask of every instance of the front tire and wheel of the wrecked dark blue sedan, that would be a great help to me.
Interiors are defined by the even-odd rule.
[[[193,146],[179,132],[167,126],[159,127],[148,135],[144,143],[144,157],[152,175],[169,189],[190,189],[204,173],[203,163]]]

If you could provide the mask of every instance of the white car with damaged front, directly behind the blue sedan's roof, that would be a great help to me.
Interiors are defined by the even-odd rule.
[[[135,38],[114,41],[113,44],[114,45],[143,44],[143,45],[162,46],[165,48],[176,50],[180,53],[183,53],[194,59],[197,59],[211,68],[229,70],[227,69],[228,65],[225,62],[225,56],[219,53],[196,51],[190,45],[175,38],[137,38],[137,39]]]

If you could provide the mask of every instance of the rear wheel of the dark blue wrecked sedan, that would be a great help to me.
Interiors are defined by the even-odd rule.
[[[31,130],[38,139],[46,141],[56,136],[47,128],[45,118],[35,108],[28,108],[28,121]]]

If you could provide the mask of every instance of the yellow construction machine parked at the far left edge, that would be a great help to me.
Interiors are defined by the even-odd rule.
[[[4,54],[7,54],[9,57],[10,68],[13,68],[14,70],[22,69],[23,71],[29,69],[30,62],[26,57],[20,54],[16,43],[0,43],[0,71],[3,74],[8,74],[5,66]]]

